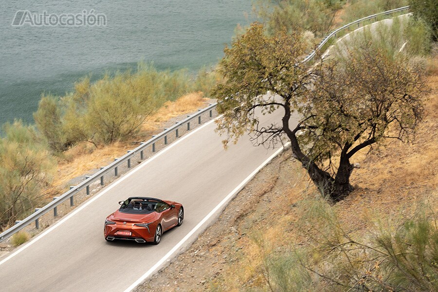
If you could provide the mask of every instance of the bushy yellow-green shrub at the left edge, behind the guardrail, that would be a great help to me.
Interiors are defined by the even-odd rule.
[[[0,139],[0,228],[12,225],[44,204],[42,190],[55,169],[37,132],[16,121],[4,126]]]

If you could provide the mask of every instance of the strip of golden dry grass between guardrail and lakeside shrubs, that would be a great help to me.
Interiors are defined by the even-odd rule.
[[[144,123],[139,136],[145,140],[150,138],[152,134],[163,130],[163,124],[166,121],[203,108],[207,101],[208,99],[204,98],[201,92],[193,92],[174,102],[165,102],[163,107]],[[126,154],[127,150],[132,149],[133,143],[137,141],[138,139],[115,142],[97,149],[92,144],[83,142],[70,148],[64,153],[64,160],[58,163],[53,186],[59,190],[64,189],[70,180],[88,174],[96,168],[109,164],[114,158]]]

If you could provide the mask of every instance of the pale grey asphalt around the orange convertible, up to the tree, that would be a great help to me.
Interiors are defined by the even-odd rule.
[[[278,119],[282,110],[277,111],[263,120]],[[209,123],[194,130],[146,165],[140,164],[122,182],[107,186],[102,196],[91,198],[94,201],[82,210],[1,264],[0,291],[127,289],[274,153],[253,146],[247,136],[225,151],[215,127]],[[128,196],[181,202],[183,225],[164,233],[156,246],[105,241],[104,219]]]

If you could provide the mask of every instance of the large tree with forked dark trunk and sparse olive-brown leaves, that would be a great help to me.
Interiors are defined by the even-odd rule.
[[[274,146],[285,135],[320,192],[338,201],[353,190],[353,155],[412,133],[422,109],[421,71],[372,47],[351,55],[347,66],[303,63],[304,43],[298,32],[268,36],[254,23],[225,48],[219,68],[225,81],[213,89],[223,114],[218,130],[227,134],[224,146],[248,130],[257,145]],[[259,112],[276,110],[282,113],[276,123],[260,124]]]

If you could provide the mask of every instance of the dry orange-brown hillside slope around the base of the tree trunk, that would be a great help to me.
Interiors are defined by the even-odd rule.
[[[354,161],[360,168],[351,177],[355,191],[346,200],[333,207],[321,202],[287,150],[248,183],[186,252],[136,291],[273,291],[272,255],[313,246],[315,235],[324,232],[318,230],[324,210],[336,214],[348,235],[364,240],[376,221],[396,226],[415,217],[424,204],[437,214],[437,55],[430,64],[432,91],[425,97],[415,141],[388,140],[368,155],[360,153]]]

